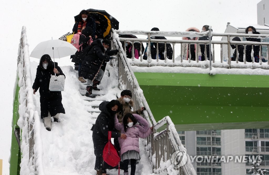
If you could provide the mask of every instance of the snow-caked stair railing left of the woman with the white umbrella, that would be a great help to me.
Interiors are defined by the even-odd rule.
[[[19,120],[17,124],[22,131],[20,174],[43,175],[43,148],[40,127],[37,127],[40,125],[40,117],[33,100],[29,48],[25,26],[22,27],[17,62],[18,85],[20,87]]]

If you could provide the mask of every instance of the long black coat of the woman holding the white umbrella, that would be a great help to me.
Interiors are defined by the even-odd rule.
[[[59,75],[64,75],[57,62],[55,62],[55,68],[59,71]],[[41,118],[48,117],[48,112],[51,116],[58,113],[65,114],[61,91],[49,90],[51,75],[55,75],[53,69],[54,66],[51,69],[44,69],[43,66],[40,65],[37,66],[33,89],[37,91],[39,88]]]

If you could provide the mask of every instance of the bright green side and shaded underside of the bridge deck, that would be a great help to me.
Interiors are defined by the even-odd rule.
[[[268,75],[135,72],[156,121],[178,131],[269,128]]]

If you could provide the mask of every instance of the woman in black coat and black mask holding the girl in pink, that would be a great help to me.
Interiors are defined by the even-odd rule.
[[[103,165],[103,150],[108,142],[108,131],[111,132],[112,138],[123,138],[126,139],[125,134],[119,133],[115,128],[114,120],[115,115],[118,111],[122,110],[122,105],[117,100],[103,101],[99,105],[99,110],[101,113],[98,115],[95,125],[93,127],[93,145],[94,145],[94,155],[95,167],[97,174],[107,173],[107,168],[109,167],[107,163]]]

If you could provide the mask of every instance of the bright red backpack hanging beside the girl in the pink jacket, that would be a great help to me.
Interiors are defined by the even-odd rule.
[[[119,165],[121,161],[118,150],[111,143],[111,131],[108,131],[108,142],[103,150],[103,160],[112,167]]]

